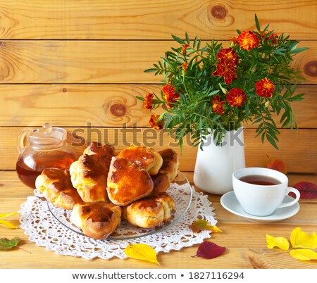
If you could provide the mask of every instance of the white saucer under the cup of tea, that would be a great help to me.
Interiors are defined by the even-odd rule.
[[[285,196],[283,202],[294,200],[291,196]],[[283,219],[290,218],[294,216],[299,211],[299,203],[294,203],[292,206],[287,206],[286,208],[279,208],[275,210],[275,213],[268,216],[255,216],[246,213],[240,203],[237,201],[234,191],[229,191],[228,193],[221,196],[220,203],[226,210],[230,211],[235,215],[239,215],[242,218],[246,218],[251,222],[276,222]]]

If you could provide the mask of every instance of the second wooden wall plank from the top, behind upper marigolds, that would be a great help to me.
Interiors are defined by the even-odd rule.
[[[162,77],[144,73],[175,42],[166,41],[2,41],[0,83],[159,83]],[[224,43],[228,46],[228,42]],[[293,66],[306,84],[317,83],[317,42],[297,54]]]

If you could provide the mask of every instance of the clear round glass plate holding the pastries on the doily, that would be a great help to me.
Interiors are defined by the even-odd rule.
[[[178,171],[178,177],[176,177],[175,181],[170,184],[170,187],[166,192],[172,196],[175,201],[175,210],[172,211],[172,217],[169,220],[166,220],[159,226],[149,229],[135,227],[130,225],[127,221],[122,220],[120,226],[116,228],[111,236],[107,238],[107,240],[127,240],[146,237],[151,234],[159,233],[178,222],[178,220],[180,220],[180,218],[185,215],[190,203],[192,202],[192,187],[190,186],[185,175]],[[56,220],[58,220],[61,225],[72,230],[73,232],[84,235],[81,229],[70,222],[72,210],[57,208],[54,206],[54,204],[49,202],[47,202],[47,206],[51,214],[54,215],[54,218],[56,218]]]

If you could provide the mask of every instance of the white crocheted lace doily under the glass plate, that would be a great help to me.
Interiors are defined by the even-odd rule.
[[[187,194],[188,191],[190,194]],[[38,246],[44,246],[58,255],[78,256],[86,259],[109,259],[115,256],[121,259],[127,258],[128,256],[124,252],[125,247],[135,243],[148,244],[156,253],[161,251],[168,253],[171,250],[179,251],[183,247],[200,244],[204,239],[211,237],[209,231],[195,234],[189,229],[189,225],[197,219],[205,219],[211,225],[216,225],[217,221],[213,217],[215,213],[213,213],[207,196],[194,191],[188,183],[182,185],[173,183],[167,192],[176,203],[174,222],[159,227],[159,231],[154,234],[149,234],[151,231],[146,229],[131,227],[123,221],[122,225],[116,229],[117,237],[105,240],[86,237],[80,232],[80,229],[76,232],[76,228],[67,227],[71,225],[68,220],[64,224],[61,223],[63,222],[61,218],[67,219],[71,210],[61,208],[52,210],[51,206],[49,209],[48,203],[40,197],[37,190],[35,190],[35,196],[27,197],[27,201],[21,205],[20,227],[25,229],[29,240]],[[184,208],[186,205],[189,205],[187,211]],[[180,211],[180,215],[177,214],[178,211]],[[139,231],[141,229],[139,235],[136,232],[137,229]],[[127,233],[134,233],[135,237],[127,239]],[[120,239],[120,237],[124,239]]]

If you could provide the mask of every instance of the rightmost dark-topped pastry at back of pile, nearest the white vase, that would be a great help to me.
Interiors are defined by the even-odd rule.
[[[178,175],[178,153],[173,151],[173,149],[163,149],[159,153],[163,158],[163,164],[159,172],[168,175],[168,180],[173,182]]]

